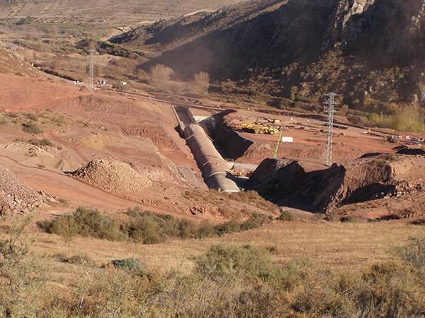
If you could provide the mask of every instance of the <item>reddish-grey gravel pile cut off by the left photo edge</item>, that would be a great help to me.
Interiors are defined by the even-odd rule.
[[[42,204],[42,196],[0,167],[0,215],[6,211],[26,212]]]

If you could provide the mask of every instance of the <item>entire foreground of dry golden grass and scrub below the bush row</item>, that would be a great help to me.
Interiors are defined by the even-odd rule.
[[[284,222],[142,245],[25,223],[2,230],[4,317],[425,316],[425,240],[408,239],[422,226]]]

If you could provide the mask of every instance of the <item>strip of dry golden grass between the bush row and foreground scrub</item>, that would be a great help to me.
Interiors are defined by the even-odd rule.
[[[293,259],[308,258],[321,269],[363,269],[392,259],[390,249],[404,245],[409,237],[423,235],[424,228],[406,223],[303,223],[277,222],[255,230],[227,234],[221,238],[203,240],[171,240],[157,245],[133,242],[111,242],[87,237],[70,241],[57,235],[33,233],[31,254],[42,257],[50,273],[68,280],[84,271],[73,264],[55,259],[55,254],[72,257],[79,253],[93,259],[97,266],[113,259],[135,258],[150,269],[176,270],[188,273],[193,258],[212,245],[253,245],[274,247],[273,260],[278,264]]]

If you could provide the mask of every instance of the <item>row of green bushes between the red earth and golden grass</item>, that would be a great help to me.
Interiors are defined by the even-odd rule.
[[[55,220],[44,220],[38,226],[48,233],[65,238],[74,236],[97,237],[106,240],[125,240],[130,238],[142,244],[157,244],[168,237],[181,240],[221,236],[225,233],[251,230],[270,223],[272,218],[263,214],[254,214],[251,218],[239,223],[235,220],[211,225],[204,221],[200,225],[185,218],[141,212],[140,208],[127,210],[128,222],[116,222],[101,215],[97,210],[77,208],[72,215],[59,216]]]

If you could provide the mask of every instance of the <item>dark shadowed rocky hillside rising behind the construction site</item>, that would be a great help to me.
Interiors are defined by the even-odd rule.
[[[248,90],[353,108],[425,105],[425,11],[419,0],[256,0],[162,21],[112,39],[157,54],[177,76],[207,71]],[[251,81],[249,81],[249,78]],[[291,96],[291,90],[293,96]]]

